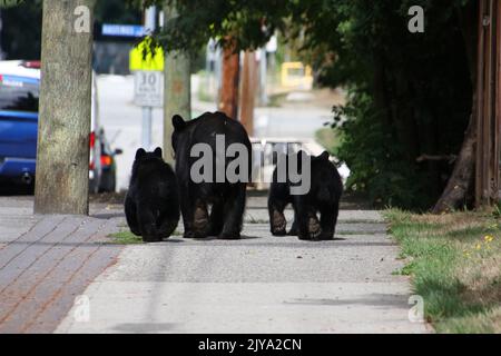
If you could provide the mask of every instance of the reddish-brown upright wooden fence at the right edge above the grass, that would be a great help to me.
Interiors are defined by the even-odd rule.
[[[501,115],[501,4],[479,1],[475,206],[499,200]]]

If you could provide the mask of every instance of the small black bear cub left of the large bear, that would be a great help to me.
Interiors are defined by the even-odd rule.
[[[145,243],[169,237],[179,221],[177,180],[161,158],[161,148],[136,151],[125,214],[130,231]]]

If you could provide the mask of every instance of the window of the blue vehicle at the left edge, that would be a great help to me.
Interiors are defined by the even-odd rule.
[[[38,112],[37,79],[0,75],[0,110]]]

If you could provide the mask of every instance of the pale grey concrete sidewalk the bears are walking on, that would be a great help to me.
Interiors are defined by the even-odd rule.
[[[336,240],[273,237],[266,198],[248,200],[242,240],[130,245],[57,333],[424,333],[377,211],[342,210]],[[292,211],[287,211],[291,217]]]

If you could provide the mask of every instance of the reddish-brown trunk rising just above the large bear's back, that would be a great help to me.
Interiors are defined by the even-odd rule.
[[[239,55],[234,46],[227,46],[223,50],[223,79],[220,89],[219,110],[228,117],[238,117],[238,79]]]

